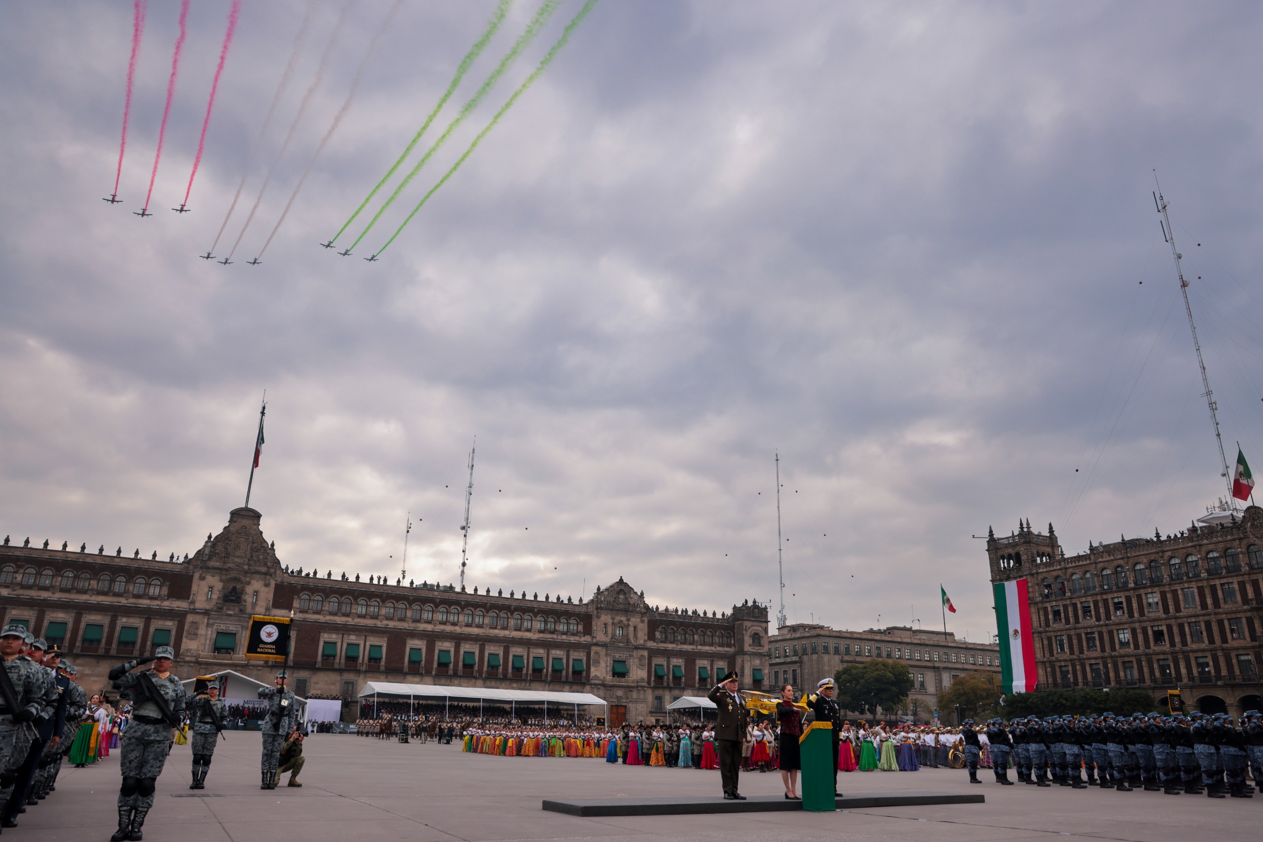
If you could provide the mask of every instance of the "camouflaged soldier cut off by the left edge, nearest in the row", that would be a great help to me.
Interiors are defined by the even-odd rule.
[[[35,738],[32,723],[42,722],[53,713],[47,699],[48,683],[43,668],[21,656],[32,640],[27,629],[10,624],[0,631],[0,658],[4,675],[0,677],[0,803],[13,794],[19,769],[27,759]],[[14,827],[16,822],[8,823]]]

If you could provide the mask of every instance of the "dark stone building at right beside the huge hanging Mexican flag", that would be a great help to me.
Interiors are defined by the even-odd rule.
[[[1259,708],[1263,509],[1220,506],[1176,534],[1066,557],[1048,525],[989,530],[991,582],[1026,578],[1041,688],[1149,691],[1186,709]],[[1130,711],[1128,711],[1130,713]]]

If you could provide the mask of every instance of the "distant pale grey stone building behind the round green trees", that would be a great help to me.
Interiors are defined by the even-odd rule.
[[[1000,672],[999,646],[956,640],[952,632],[908,626],[865,631],[841,631],[829,626],[794,624],[781,626],[769,640],[770,687],[793,684],[797,694],[812,693],[816,683],[832,677],[846,664],[874,658],[899,660],[912,670],[913,687],[904,707],[907,718],[928,722],[937,709],[938,694],[973,672]],[[899,712],[882,712],[894,718]],[[954,721],[954,713],[941,712]]]

